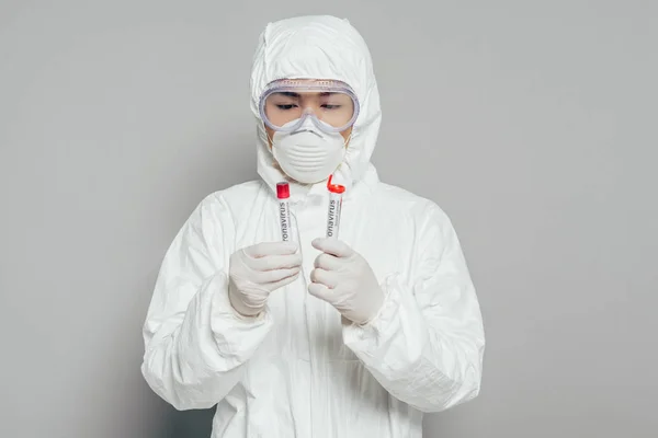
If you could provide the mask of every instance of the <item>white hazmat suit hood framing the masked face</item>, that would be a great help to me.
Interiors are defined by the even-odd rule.
[[[379,92],[370,50],[361,34],[349,23],[329,15],[298,16],[269,23],[261,33],[251,71],[251,111],[257,118],[258,173],[275,192],[276,183],[291,182],[293,201],[309,192],[326,189],[291,181],[276,165],[259,112],[265,87],[279,79],[327,79],[349,84],[355,92],[360,113],[352,128],[344,158],[333,182],[350,188],[375,173],[371,157],[377,142],[382,113]],[[376,174],[376,173],[375,173]]]

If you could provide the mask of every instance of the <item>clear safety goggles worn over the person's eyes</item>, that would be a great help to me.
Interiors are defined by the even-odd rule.
[[[310,118],[318,129],[342,132],[356,120],[359,101],[340,81],[282,79],[271,82],[261,95],[260,115],[276,131],[295,131]]]

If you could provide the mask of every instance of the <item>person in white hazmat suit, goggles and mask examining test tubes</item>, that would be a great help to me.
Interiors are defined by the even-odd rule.
[[[207,195],[168,249],[143,376],[177,410],[216,405],[215,438],[421,437],[424,413],[478,395],[484,326],[446,214],[371,163],[368,48],[347,20],[270,23],[250,83],[260,177]],[[329,176],[345,186],[331,239]]]

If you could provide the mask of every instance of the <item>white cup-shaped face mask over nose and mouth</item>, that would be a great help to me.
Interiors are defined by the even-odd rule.
[[[327,134],[306,122],[293,132],[275,131],[272,153],[290,177],[313,184],[336,171],[345,153],[345,140],[340,132]]]

